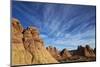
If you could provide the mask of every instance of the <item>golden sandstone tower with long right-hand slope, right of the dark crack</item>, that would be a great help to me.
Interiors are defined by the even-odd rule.
[[[23,43],[32,55],[33,64],[58,63],[44,47],[36,28],[29,27],[23,31]]]

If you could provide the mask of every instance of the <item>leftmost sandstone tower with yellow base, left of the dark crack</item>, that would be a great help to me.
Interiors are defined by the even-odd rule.
[[[21,26],[19,20],[12,19],[12,65],[25,65],[31,64],[31,54],[27,52],[24,48],[22,41],[23,38],[23,27]]]

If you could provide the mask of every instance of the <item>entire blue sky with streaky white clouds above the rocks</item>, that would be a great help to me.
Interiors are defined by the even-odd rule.
[[[76,49],[95,47],[96,7],[13,1],[12,17],[24,28],[37,27],[46,46]]]

